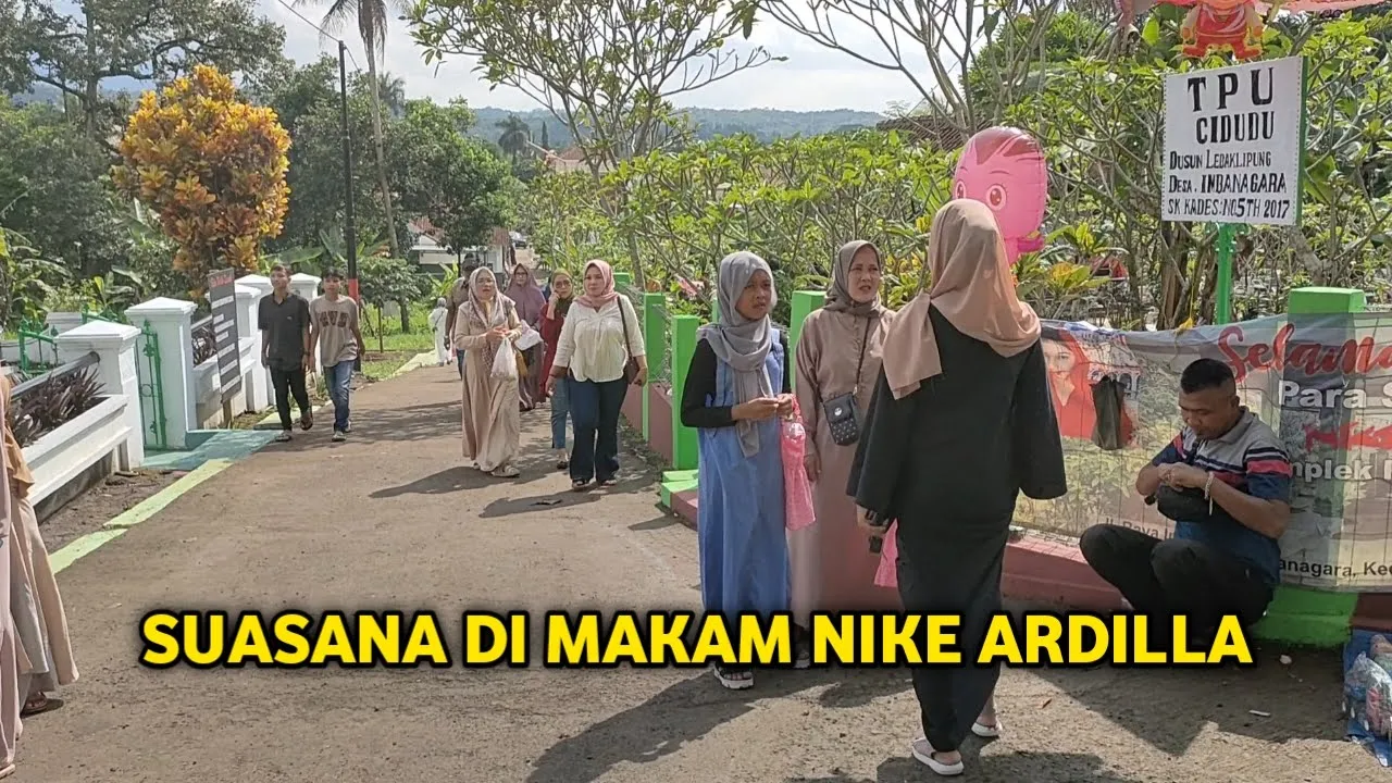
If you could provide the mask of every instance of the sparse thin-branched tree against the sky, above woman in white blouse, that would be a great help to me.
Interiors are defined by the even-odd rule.
[[[763,47],[741,56],[725,45],[753,11],[748,0],[420,0],[411,20],[427,64],[476,57],[489,82],[522,91],[571,131],[599,183],[677,138],[675,98],[771,60]],[[606,209],[622,215],[624,194]],[[643,284],[633,241],[629,261]]]

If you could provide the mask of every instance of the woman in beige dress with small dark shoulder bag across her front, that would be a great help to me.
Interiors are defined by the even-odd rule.
[[[817,524],[788,534],[792,567],[792,612],[806,627],[812,612],[896,610],[899,596],[876,587],[880,556],[856,528],[856,504],[846,495],[853,440],[837,443],[827,421],[835,407],[853,396],[857,425],[864,425],[880,351],[894,311],[880,304],[880,251],[870,242],[848,242],[837,254],[827,304],[807,316],[798,339],[798,405],[812,437],[806,471],[813,482]],[[839,400],[838,400],[839,398]],[[844,437],[845,440],[845,437]]]

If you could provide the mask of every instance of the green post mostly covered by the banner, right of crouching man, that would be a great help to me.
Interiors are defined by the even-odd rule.
[[[1367,298],[1357,288],[1296,288],[1290,291],[1288,316],[1356,313],[1366,305]],[[1347,417],[1349,411],[1342,411],[1339,424],[1347,424]],[[1343,506],[1342,493],[1331,500],[1335,507]],[[1339,646],[1349,639],[1349,623],[1357,603],[1356,592],[1279,585],[1256,631],[1264,639],[1285,644]]]

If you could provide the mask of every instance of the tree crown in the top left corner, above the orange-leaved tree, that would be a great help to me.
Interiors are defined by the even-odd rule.
[[[252,0],[81,0],[75,14],[46,0],[18,1],[13,38],[28,53],[29,79],[75,100],[99,141],[122,118],[103,81],[167,84],[200,63],[246,74],[271,63],[285,42]]]

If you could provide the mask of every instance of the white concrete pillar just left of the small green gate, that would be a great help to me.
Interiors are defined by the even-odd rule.
[[[135,368],[135,343],[141,330],[124,323],[93,320],[58,334],[58,361],[77,361],[95,352],[99,359],[97,379],[110,396],[125,397],[125,424],[129,432],[117,451],[121,470],[145,464],[145,417],[141,410],[141,379]],[[155,411],[150,414],[156,415]],[[153,421],[153,418],[152,418]]]

